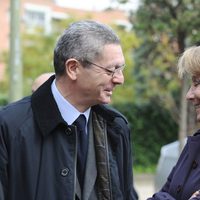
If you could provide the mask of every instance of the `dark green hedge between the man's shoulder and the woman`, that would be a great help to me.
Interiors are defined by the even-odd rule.
[[[130,123],[134,167],[155,169],[160,148],[177,139],[178,126],[170,117],[169,111],[154,100],[143,105],[126,103],[113,106]]]

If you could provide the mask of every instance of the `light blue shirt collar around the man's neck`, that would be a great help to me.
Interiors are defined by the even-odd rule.
[[[51,91],[53,93],[53,97],[57,103],[58,109],[61,113],[63,119],[67,122],[68,125],[71,125],[80,114],[84,114],[88,123],[90,110],[88,108],[85,112],[79,112],[72,104],[69,103],[59,92],[58,88],[56,87],[55,79],[51,84]]]

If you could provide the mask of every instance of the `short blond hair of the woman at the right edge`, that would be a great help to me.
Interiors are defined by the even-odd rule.
[[[192,46],[186,49],[178,61],[178,75],[200,75],[200,46]]]

